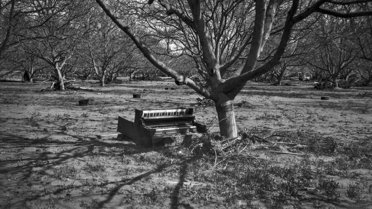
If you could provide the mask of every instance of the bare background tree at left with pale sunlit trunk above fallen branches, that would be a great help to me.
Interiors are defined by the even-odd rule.
[[[84,1],[51,0],[38,1],[30,6],[34,6],[35,10],[39,8],[38,12],[24,17],[34,19],[34,25],[17,34],[22,41],[16,47],[49,65],[58,80],[58,88],[64,90],[63,68],[73,56],[78,37],[89,31],[84,15],[89,12],[90,5]],[[33,38],[22,38],[27,36]]]

